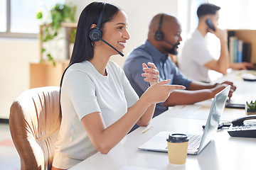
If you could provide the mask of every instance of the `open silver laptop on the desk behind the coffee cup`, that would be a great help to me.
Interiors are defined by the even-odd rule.
[[[218,124],[220,123],[220,116],[223,113],[225,102],[228,98],[230,86],[227,86],[223,91],[220,91],[214,96],[213,103],[210,107],[210,113],[206,121],[203,134],[186,134],[188,135],[188,154],[199,154],[208,143],[213,140],[215,133],[218,130]],[[139,146],[139,149],[168,152],[166,138],[170,133],[161,131],[154,135],[150,140]]]

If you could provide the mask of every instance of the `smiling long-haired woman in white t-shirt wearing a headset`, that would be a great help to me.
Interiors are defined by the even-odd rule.
[[[123,70],[110,60],[122,54],[127,16],[113,4],[92,2],[82,11],[70,64],[60,83],[62,121],[52,169],[69,169],[92,154],[110,152],[129,130],[146,126],[155,103],[183,86],[158,82],[156,67],[142,64],[149,89],[138,98]]]

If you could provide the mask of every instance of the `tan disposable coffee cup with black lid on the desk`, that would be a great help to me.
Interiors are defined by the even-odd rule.
[[[170,134],[167,139],[170,164],[185,164],[188,150],[188,137],[185,134]]]

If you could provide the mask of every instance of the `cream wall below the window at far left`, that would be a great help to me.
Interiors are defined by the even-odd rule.
[[[29,62],[38,52],[38,40],[0,38],[0,118],[9,118],[11,103],[29,89]]]

